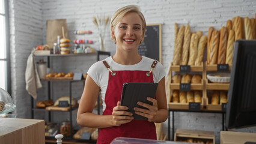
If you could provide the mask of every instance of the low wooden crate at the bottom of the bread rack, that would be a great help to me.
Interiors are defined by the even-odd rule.
[[[174,134],[174,141],[190,143],[215,143],[215,136],[212,131],[181,130],[177,129]]]

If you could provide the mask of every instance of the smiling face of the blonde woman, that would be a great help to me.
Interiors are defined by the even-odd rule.
[[[144,34],[142,20],[137,13],[126,13],[112,29],[112,37],[117,41],[117,48],[123,50],[136,50]]]

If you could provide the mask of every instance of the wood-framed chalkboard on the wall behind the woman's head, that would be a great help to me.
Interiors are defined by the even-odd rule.
[[[162,25],[160,23],[147,25],[144,40],[138,47],[138,53],[162,62]]]

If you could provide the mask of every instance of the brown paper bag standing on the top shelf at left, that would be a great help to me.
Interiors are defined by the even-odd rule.
[[[46,43],[50,46],[50,49],[53,47],[53,43],[57,43],[58,35],[62,38],[62,26],[64,28],[65,38],[69,38],[67,35],[67,23],[66,19],[55,19],[47,20],[47,34],[46,34]]]

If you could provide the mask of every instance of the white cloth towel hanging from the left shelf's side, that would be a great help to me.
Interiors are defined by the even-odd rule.
[[[26,61],[25,81],[26,91],[34,98],[37,99],[37,89],[41,88],[41,81],[37,72],[37,65],[34,59],[35,49],[32,49],[31,54]]]

